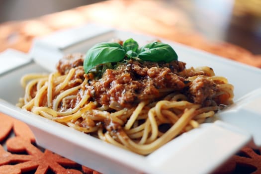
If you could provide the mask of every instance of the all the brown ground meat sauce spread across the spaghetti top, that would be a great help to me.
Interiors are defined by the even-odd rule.
[[[59,61],[57,70],[62,75],[71,68],[76,69],[70,87],[80,85],[88,76],[85,76],[83,62],[82,54],[69,55]],[[186,80],[191,76],[198,77],[192,82]],[[218,88],[205,76],[209,75],[204,71],[185,69],[181,61],[157,63],[131,59],[114,70],[107,69],[99,80],[88,76],[88,83],[82,87],[89,89],[92,100],[100,105],[116,103],[119,107],[133,107],[142,100],[159,98],[161,89],[172,88],[187,95],[191,102],[207,106]]]

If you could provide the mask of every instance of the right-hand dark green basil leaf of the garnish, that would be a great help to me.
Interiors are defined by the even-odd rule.
[[[138,57],[144,61],[152,62],[171,62],[177,60],[177,54],[174,49],[165,43],[152,42],[143,46]]]

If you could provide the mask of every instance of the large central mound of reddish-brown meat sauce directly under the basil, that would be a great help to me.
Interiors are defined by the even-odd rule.
[[[157,98],[160,89],[185,87],[184,78],[175,74],[184,68],[185,64],[178,61],[141,64],[129,60],[115,70],[107,69],[101,79],[92,80],[87,88],[94,87],[92,97],[101,105],[116,102],[122,107],[132,107],[141,100]]]

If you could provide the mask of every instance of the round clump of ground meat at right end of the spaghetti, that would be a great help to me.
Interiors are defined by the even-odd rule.
[[[218,87],[213,81],[198,76],[189,86],[187,95],[193,103],[207,106],[217,90]]]

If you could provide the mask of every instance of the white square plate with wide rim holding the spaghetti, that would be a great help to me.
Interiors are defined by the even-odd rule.
[[[84,27],[83,31],[91,32],[99,26]],[[261,100],[261,70],[164,39],[161,40],[174,48],[179,61],[186,62],[187,68],[209,66],[217,76],[226,77],[235,87],[235,104],[221,111],[217,115],[218,120],[182,134],[148,156],[120,149],[15,106],[23,95],[20,78],[27,73],[53,70],[57,62],[53,61],[54,55],[63,55],[68,50],[82,52],[81,49],[87,50],[97,40],[100,42],[110,38],[133,38],[139,45],[159,39],[111,29],[98,31],[100,33],[94,36],[83,37],[79,36],[79,29],[59,33],[60,39],[67,41],[66,48],[59,48],[59,44],[49,45],[46,38],[44,42],[37,39],[30,52],[34,61],[0,75],[0,111],[27,123],[38,145],[104,174],[205,174],[215,170],[252,139],[256,146],[261,146],[261,126],[258,125],[261,123],[261,108],[257,104]],[[77,38],[81,39],[73,40],[70,45],[67,32],[77,34]],[[52,40],[52,37],[49,39]],[[45,57],[45,52],[53,55],[50,56],[52,60],[49,56]]]

